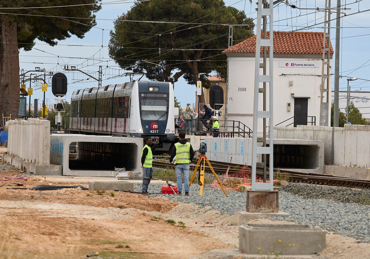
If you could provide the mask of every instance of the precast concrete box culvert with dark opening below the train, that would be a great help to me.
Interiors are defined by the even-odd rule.
[[[76,147],[70,158],[70,145]],[[141,174],[142,138],[51,134],[50,161],[63,166],[63,175],[115,177],[115,168]]]

